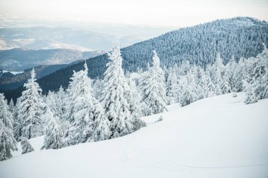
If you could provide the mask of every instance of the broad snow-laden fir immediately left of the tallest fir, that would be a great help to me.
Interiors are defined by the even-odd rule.
[[[68,91],[68,120],[71,128],[66,133],[66,144],[73,145],[86,141],[109,139],[109,123],[104,109],[92,95],[88,69],[74,72]]]

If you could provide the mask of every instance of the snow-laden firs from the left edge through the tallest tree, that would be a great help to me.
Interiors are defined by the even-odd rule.
[[[1,160],[11,158],[17,141],[23,153],[33,151],[28,139],[36,136],[44,135],[42,149],[57,149],[124,136],[145,127],[145,122],[140,120],[139,103],[131,90],[135,84],[126,79],[122,69],[119,46],[109,53],[109,59],[99,93],[92,90],[85,63],[84,70],[73,72],[66,91],[61,87],[56,93],[49,91],[47,96],[42,96],[32,69],[16,106],[13,101],[8,106],[1,94]]]

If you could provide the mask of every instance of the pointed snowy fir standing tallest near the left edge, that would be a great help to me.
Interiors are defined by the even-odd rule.
[[[42,89],[35,78],[35,70],[32,68],[31,77],[27,83],[24,84],[25,91],[20,96],[20,105],[18,106],[18,117],[21,120],[21,134],[30,139],[42,134],[43,121],[41,120],[44,114],[44,103],[42,101]]]

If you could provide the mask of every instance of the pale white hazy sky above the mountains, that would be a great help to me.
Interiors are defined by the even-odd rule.
[[[268,0],[0,0],[0,14],[31,20],[183,27],[235,16],[268,21]]]

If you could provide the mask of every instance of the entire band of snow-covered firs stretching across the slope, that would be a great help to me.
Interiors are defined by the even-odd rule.
[[[168,104],[186,106],[210,96],[245,91],[245,103],[268,98],[268,50],[252,58],[234,57],[225,63],[220,54],[215,63],[202,68],[184,61],[180,66],[160,67],[153,51],[152,65],[143,72],[124,73],[121,51],[115,46],[109,55],[103,80],[90,80],[87,63],[73,72],[68,89],[42,89],[35,79],[24,84],[25,91],[8,103],[0,94],[0,160],[11,158],[20,141],[23,153],[34,149],[28,139],[44,135],[42,149],[101,141],[130,134],[145,127],[140,117],[162,113]]]

